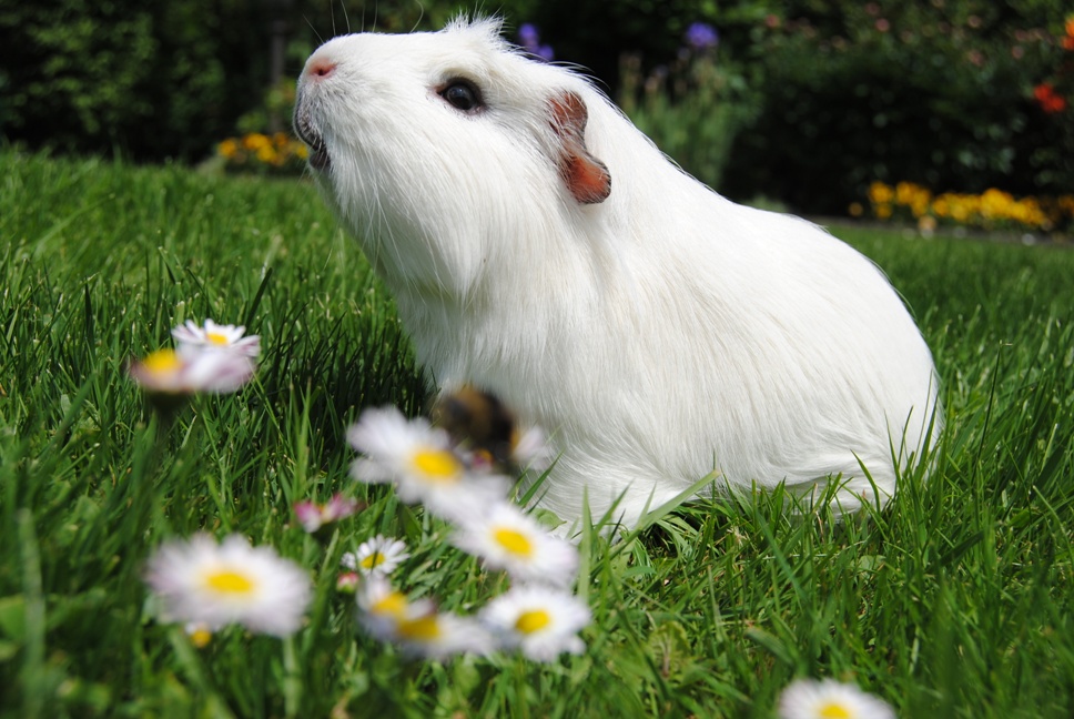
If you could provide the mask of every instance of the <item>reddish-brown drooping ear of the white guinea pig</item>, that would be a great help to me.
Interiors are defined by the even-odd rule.
[[[577,93],[566,91],[549,101],[551,126],[559,138],[559,176],[581,204],[604,202],[611,194],[608,168],[586,150],[589,111]]]

